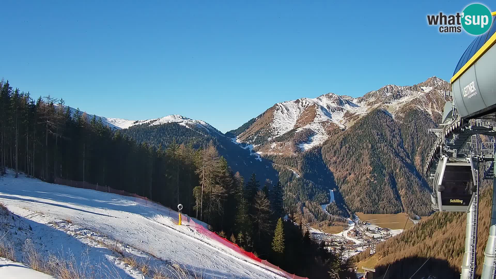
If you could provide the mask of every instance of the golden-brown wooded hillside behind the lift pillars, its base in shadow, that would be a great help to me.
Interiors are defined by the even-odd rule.
[[[492,186],[485,187],[479,200],[478,276],[482,272],[484,248],[489,235],[492,190]],[[376,275],[381,278],[389,268],[384,279],[410,278],[425,262],[422,269],[415,275],[415,279],[426,278],[430,275],[438,279],[460,278],[460,264],[465,244],[465,223],[466,213],[436,212],[427,220],[421,221],[400,235],[378,244],[376,253],[372,256],[377,261]],[[364,252],[356,256],[355,260],[370,257],[370,254],[367,255]]]

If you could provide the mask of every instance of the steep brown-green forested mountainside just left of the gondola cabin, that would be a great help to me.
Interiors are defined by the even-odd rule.
[[[430,212],[429,186],[403,140],[420,135],[403,136],[401,126],[389,113],[376,110],[322,147],[324,161],[352,211]],[[415,151],[425,153],[425,147]]]

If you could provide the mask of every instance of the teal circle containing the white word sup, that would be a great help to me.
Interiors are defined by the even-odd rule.
[[[491,27],[493,16],[491,11],[483,4],[470,4],[462,14],[462,26],[467,33],[481,35]]]

